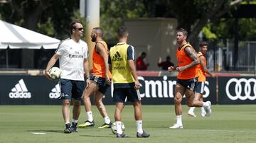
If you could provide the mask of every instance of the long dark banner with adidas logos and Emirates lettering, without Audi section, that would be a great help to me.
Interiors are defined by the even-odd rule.
[[[55,105],[61,104],[58,81],[45,76],[0,76],[0,105]],[[144,105],[174,104],[176,77],[139,76],[140,96]],[[216,79],[209,78],[204,88],[204,101],[216,103]],[[92,99],[93,101],[93,99]],[[183,98],[183,104],[186,99]],[[112,102],[112,88],[107,91],[103,102]],[[92,102],[92,104],[94,104]]]

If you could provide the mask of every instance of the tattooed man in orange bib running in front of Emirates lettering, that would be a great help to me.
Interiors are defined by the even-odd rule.
[[[182,108],[181,101],[182,97],[186,95],[186,104],[189,107],[204,107],[206,113],[210,115],[210,101],[204,103],[202,101],[194,101],[194,89],[198,78],[196,77],[196,65],[199,64],[199,59],[196,56],[196,51],[193,47],[186,42],[188,32],[183,28],[177,30],[176,40],[178,48],[176,50],[176,57],[178,67],[169,67],[169,71],[178,71],[177,84],[175,87],[175,113],[176,113],[176,124],[169,127],[171,129],[182,129]]]

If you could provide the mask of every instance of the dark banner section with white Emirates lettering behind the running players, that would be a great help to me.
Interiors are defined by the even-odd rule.
[[[143,77],[139,76],[139,82],[142,84],[140,89],[143,104],[174,104],[176,77],[159,76]],[[216,80],[206,81],[204,88],[204,101],[216,103]],[[183,97],[182,104],[186,103]]]

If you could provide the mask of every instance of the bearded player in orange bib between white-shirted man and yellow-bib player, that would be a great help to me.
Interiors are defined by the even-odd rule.
[[[95,122],[92,118],[92,109],[90,96],[94,95],[95,105],[100,114],[105,119],[105,123],[98,128],[110,128],[111,121],[107,115],[105,105],[102,103],[102,98],[110,87],[112,75],[109,71],[108,65],[108,48],[107,43],[102,40],[102,28],[93,28],[91,33],[92,42],[95,42],[95,48],[92,53],[92,70],[93,74],[90,76],[90,86],[85,88],[83,93],[83,101],[85,103],[85,111],[87,113],[87,120],[84,124],[78,127],[94,127]]]

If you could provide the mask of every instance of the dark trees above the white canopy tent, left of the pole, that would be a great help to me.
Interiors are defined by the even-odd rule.
[[[80,18],[78,11],[79,0],[9,0],[0,4],[5,21],[59,39],[68,37],[68,24]]]

